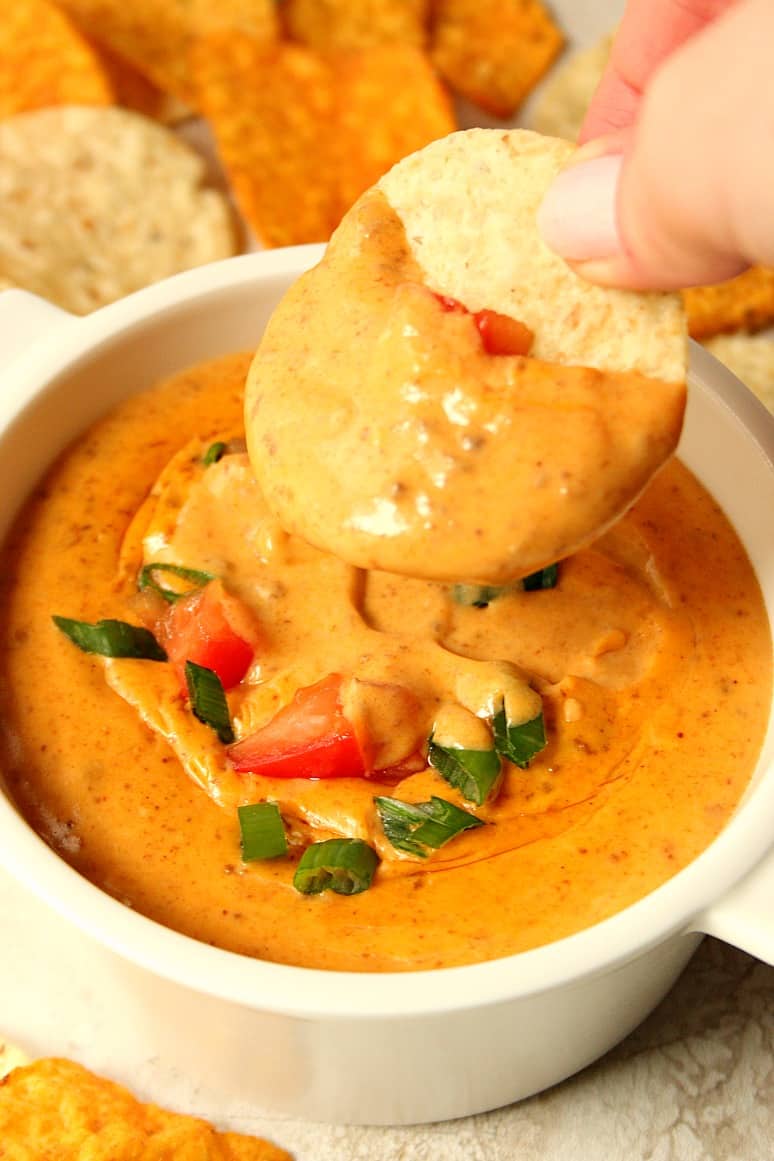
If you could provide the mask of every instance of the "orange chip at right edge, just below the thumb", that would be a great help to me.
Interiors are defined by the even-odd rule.
[[[752,266],[728,282],[682,291],[688,333],[708,339],[728,331],[761,331],[774,323],[774,269]]]

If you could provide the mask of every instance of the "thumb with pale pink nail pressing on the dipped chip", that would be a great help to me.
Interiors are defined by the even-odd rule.
[[[774,5],[739,0],[659,67],[634,127],[583,146],[538,214],[584,277],[635,289],[774,265]]]

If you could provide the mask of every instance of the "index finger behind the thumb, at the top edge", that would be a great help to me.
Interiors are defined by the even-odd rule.
[[[627,129],[666,57],[738,0],[629,0],[578,140]]]

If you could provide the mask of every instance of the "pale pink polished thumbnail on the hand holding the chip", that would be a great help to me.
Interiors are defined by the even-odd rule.
[[[621,253],[616,195],[622,164],[622,153],[578,161],[549,186],[537,228],[551,250],[577,262]]]

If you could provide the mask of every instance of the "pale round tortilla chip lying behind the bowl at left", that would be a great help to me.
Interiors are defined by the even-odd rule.
[[[236,252],[205,165],[126,109],[66,107],[0,122],[0,276],[82,315]]]

